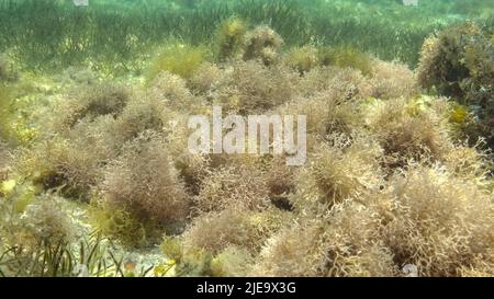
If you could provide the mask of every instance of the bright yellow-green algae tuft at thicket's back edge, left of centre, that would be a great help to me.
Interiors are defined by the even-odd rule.
[[[146,71],[146,82],[153,82],[161,71],[188,79],[194,74],[206,58],[206,49],[202,46],[190,46],[170,43],[160,50]]]

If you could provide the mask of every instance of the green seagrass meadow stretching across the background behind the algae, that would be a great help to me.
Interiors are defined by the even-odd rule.
[[[142,69],[142,61],[170,37],[210,43],[232,15],[267,24],[287,46],[345,45],[414,67],[433,32],[464,20],[490,26],[489,0],[1,0],[0,51],[26,69],[91,65],[110,71]]]

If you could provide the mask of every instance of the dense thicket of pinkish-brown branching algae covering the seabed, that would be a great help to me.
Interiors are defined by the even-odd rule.
[[[249,12],[138,76],[0,60],[1,276],[494,275],[492,31],[438,32],[411,70]],[[213,105],[306,115],[307,162],[190,153]]]

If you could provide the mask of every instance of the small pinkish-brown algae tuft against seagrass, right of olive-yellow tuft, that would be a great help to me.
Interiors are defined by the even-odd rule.
[[[278,59],[283,39],[268,26],[258,26],[246,33],[244,60],[260,59],[266,66]]]

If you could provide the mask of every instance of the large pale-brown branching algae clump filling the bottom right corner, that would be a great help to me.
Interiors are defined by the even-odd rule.
[[[390,188],[395,218],[383,238],[397,264],[416,265],[420,276],[458,276],[479,258],[492,265],[492,193],[420,165],[396,174]]]

